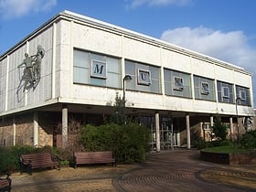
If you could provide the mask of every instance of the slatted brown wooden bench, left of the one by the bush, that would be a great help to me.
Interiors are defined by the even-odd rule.
[[[49,153],[20,155],[19,162],[20,174],[27,170],[32,175],[32,169],[36,168],[58,167],[59,169],[59,162],[54,161]]]

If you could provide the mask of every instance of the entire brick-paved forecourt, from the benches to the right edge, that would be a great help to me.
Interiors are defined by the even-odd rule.
[[[197,150],[151,153],[142,165],[82,166],[13,174],[12,192],[256,191],[256,165],[217,165]]]

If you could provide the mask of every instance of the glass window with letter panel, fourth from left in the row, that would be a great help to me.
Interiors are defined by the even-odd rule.
[[[194,76],[195,99],[216,101],[214,80]]]

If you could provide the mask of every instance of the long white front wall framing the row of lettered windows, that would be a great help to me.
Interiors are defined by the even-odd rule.
[[[219,66],[207,59],[196,59],[189,55],[175,52],[171,48],[161,47],[158,44],[148,43],[136,37],[118,34],[101,27],[90,27],[73,22],[63,21],[63,33],[61,33],[63,52],[61,55],[72,57],[69,48],[81,48],[106,55],[112,55],[123,59],[132,59],[139,62],[152,64],[162,68],[175,69],[213,80],[227,81],[231,84],[239,84],[251,88],[251,76],[241,73],[231,67]],[[66,52],[65,52],[65,47]],[[65,52],[65,53],[64,53]],[[63,58],[63,57],[62,57]],[[70,61],[69,61],[70,60]],[[69,61],[69,62],[68,62]],[[64,63],[66,63],[64,65]],[[101,104],[114,101],[115,90],[106,88],[93,88],[87,85],[73,85],[72,83],[72,59],[66,58],[61,62],[62,74],[61,87],[63,94],[60,97],[72,98],[72,101]],[[70,66],[69,66],[70,64]],[[67,65],[67,66],[66,66]],[[67,69],[66,69],[67,68]],[[68,74],[69,72],[69,74]],[[69,79],[69,80],[68,80]],[[63,83],[65,82],[65,83]],[[71,87],[71,89],[69,89]],[[67,91],[68,90],[68,91]],[[118,91],[118,90],[117,90]],[[119,91],[122,94],[122,91]],[[234,114],[234,104],[218,103],[213,101],[195,101],[193,99],[165,96],[164,93],[152,94],[140,91],[127,91],[127,106],[135,108],[148,108],[158,110],[174,110],[182,112],[208,112]],[[242,107],[244,112],[252,112],[248,107]]]

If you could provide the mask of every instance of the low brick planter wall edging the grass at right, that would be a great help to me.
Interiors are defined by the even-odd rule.
[[[200,151],[200,158],[204,161],[226,165],[256,164],[256,150],[246,153],[213,153]]]

